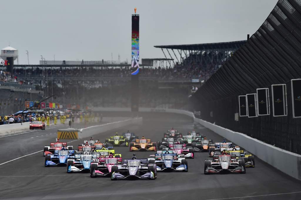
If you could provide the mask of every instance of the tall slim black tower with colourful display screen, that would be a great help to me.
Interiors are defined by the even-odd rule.
[[[132,15],[131,110],[139,111],[139,15]]]

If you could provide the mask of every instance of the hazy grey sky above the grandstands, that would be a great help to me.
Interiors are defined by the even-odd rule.
[[[46,60],[131,59],[131,14],[140,14],[140,59],[163,58],[154,45],[247,39],[276,0],[9,0],[1,1],[0,48],[19,64]]]

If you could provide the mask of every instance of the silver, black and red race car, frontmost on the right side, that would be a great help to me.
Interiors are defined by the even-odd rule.
[[[212,160],[205,160],[204,174],[212,173],[246,173],[246,166],[243,159],[236,160],[233,155],[218,155]]]

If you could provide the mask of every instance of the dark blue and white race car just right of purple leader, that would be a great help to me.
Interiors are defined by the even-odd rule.
[[[174,153],[164,152],[161,159],[155,160],[157,171],[188,171],[188,163],[184,156],[174,158]]]

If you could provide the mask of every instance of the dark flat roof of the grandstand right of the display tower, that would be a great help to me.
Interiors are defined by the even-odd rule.
[[[161,45],[154,46],[163,49],[179,49],[179,50],[209,50],[209,49],[239,49],[247,40],[233,42],[218,42],[205,44],[181,44],[181,45]]]

